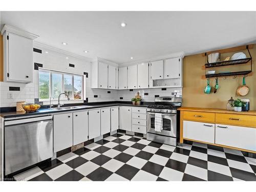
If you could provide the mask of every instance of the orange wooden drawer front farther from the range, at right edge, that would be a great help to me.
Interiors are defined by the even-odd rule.
[[[217,113],[216,122],[223,124],[256,127],[256,116]]]

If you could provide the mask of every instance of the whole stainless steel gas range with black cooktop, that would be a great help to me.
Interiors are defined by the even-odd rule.
[[[156,97],[155,104],[147,107],[147,140],[177,145],[179,137],[179,113],[181,97]],[[155,114],[162,114],[163,130],[155,131]]]

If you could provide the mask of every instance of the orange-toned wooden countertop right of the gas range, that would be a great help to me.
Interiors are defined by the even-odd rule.
[[[243,111],[243,112],[235,112],[228,111],[224,109],[214,109],[214,108],[190,108],[190,107],[182,107],[178,109],[179,111],[197,111],[197,112],[211,112],[211,113],[226,113],[226,114],[237,114],[237,115],[256,115],[256,111]]]

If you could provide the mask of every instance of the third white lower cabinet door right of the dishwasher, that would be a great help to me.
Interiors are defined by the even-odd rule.
[[[89,111],[89,139],[100,136],[100,109]]]

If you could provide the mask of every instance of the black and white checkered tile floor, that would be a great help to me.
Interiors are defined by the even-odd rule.
[[[29,181],[256,181],[256,159],[194,142],[115,134],[14,176]]]

